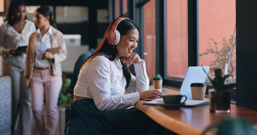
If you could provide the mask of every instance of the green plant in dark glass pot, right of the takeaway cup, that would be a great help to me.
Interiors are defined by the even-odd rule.
[[[207,74],[214,89],[209,89],[210,112],[229,113],[230,112],[230,90],[237,84],[225,84],[225,80],[231,75],[222,76],[221,69],[214,69],[215,78],[212,79]]]

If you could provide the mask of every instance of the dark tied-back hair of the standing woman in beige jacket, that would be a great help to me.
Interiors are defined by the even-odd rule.
[[[51,9],[48,6],[40,6],[38,9],[36,9],[36,11],[38,13],[42,14],[44,17],[49,16],[50,25],[52,25],[54,28],[57,29],[57,25],[52,18],[53,12],[51,11]]]

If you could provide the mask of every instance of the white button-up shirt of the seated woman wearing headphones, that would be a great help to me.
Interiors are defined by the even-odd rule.
[[[120,110],[135,105],[139,92],[149,90],[145,61],[134,63],[136,77],[131,74],[128,88],[120,59],[110,61],[105,56],[95,56],[79,73],[74,95],[93,98],[100,111]],[[124,95],[127,91],[129,94]]]

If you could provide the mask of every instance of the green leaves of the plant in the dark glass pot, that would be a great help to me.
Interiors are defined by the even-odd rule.
[[[207,72],[205,70],[204,70],[204,72],[207,74]],[[231,75],[222,76],[221,69],[215,68],[214,73],[215,73],[214,79],[210,78],[210,76],[208,74],[207,74],[207,76],[208,76],[210,82],[212,83],[214,89],[217,92],[224,92],[226,90],[231,90],[232,88],[235,88],[236,86],[238,86],[237,84],[225,84],[226,79],[228,77],[230,77]]]

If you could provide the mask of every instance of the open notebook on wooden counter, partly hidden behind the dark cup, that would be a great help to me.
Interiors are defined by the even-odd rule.
[[[143,105],[157,105],[157,103],[163,103],[162,98],[157,98],[152,101],[144,102]],[[184,107],[196,107],[196,106],[202,106],[202,105],[208,105],[209,101],[203,101],[203,100],[187,100],[186,105]]]

